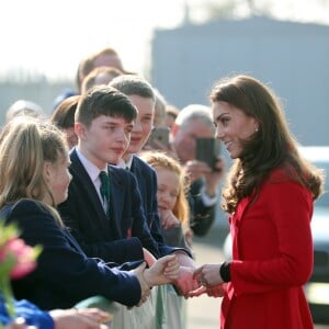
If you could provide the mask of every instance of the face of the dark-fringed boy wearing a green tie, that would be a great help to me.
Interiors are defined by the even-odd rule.
[[[116,164],[126,151],[134,122],[123,117],[101,115],[94,118],[90,127],[76,123],[75,129],[79,137],[79,148],[98,168],[106,163]]]

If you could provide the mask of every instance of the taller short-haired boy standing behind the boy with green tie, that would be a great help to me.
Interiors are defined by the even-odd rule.
[[[138,110],[132,129],[131,143],[118,162],[118,166],[128,169],[137,179],[147,224],[152,237],[158,242],[160,256],[168,254],[174,250],[179,253],[181,265],[185,270],[185,275],[182,275],[184,277],[184,286],[180,288],[182,293],[185,294],[185,292],[193,287],[193,282],[190,280],[189,274],[194,270],[194,261],[188,246],[185,246],[185,249],[181,249],[164,243],[158,215],[157,175],[155,170],[137,156],[147,143],[154,126],[155,91],[148,81],[136,75],[118,76],[114,78],[109,86],[126,94]]]

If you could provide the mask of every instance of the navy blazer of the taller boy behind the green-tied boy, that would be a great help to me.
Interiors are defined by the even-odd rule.
[[[150,232],[154,239],[158,243],[160,256],[162,257],[172,253],[177,250],[183,250],[189,256],[191,256],[191,252],[188,248],[174,248],[164,243],[161,230],[161,223],[158,215],[158,182],[157,173],[155,172],[155,170],[147,162],[134,155],[131,171],[135,174],[137,179],[138,189],[141,194],[141,203],[147,218],[147,224],[150,228]]]

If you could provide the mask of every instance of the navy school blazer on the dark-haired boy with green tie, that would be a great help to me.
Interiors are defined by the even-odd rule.
[[[68,198],[58,208],[86,254],[105,262],[124,263],[143,259],[145,247],[158,258],[157,243],[146,223],[135,177],[124,169],[109,166],[111,215],[107,218],[75,149],[70,152],[70,160],[72,180]]]

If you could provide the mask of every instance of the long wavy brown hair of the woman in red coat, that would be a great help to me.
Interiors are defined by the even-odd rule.
[[[307,186],[313,197],[322,191],[322,174],[299,156],[297,143],[290,133],[283,109],[270,88],[249,76],[225,78],[215,83],[211,101],[226,102],[254,117],[259,129],[241,140],[242,155],[235,160],[223,190],[223,208],[232,214],[245,196],[257,198],[265,178],[282,168],[293,181]]]

